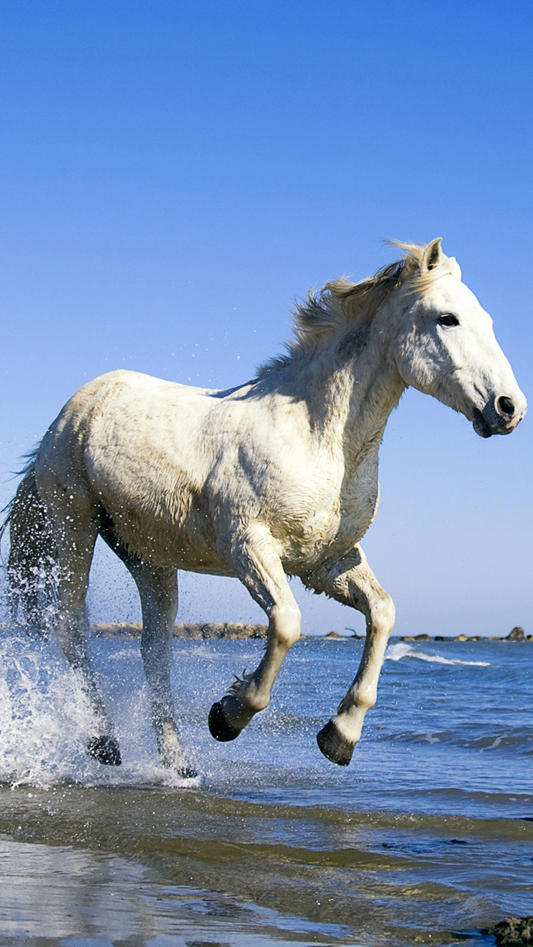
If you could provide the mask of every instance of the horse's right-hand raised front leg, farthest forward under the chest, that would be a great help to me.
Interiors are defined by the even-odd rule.
[[[360,738],[365,714],[376,704],[377,681],[395,623],[395,606],[359,546],[349,556],[306,577],[304,582],[366,617],[366,639],[356,677],[340,701],[335,717],[317,735],[324,757],[347,766]]]

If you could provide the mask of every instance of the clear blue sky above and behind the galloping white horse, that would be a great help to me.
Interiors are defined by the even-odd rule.
[[[531,401],[532,27],[520,0],[2,4],[0,501],[84,382],[246,381],[294,297],[368,276],[388,237],[443,237]],[[363,543],[398,633],[533,633],[531,431],[402,399]],[[362,631],[294,589],[304,630]],[[105,557],[90,595],[137,615]],[[261,620],[234,581],[181,600]]]

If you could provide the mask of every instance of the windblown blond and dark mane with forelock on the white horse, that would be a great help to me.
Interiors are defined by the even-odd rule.
[[[398,287],[411,283],[411,292],[422,292],[435,279],[452,272],[444,255],[438,266],[423,266],[429,244],[388,242],[405,251],[401,259],[387,263],[373,277],[358,283],[345,277],[333,279],[320,290],[309,290],[305,300],[296,303],[292,311],[294,339],[286,343],[285,355],[275,356],[259,368],[258,378],[309,353],[327,336],[342,329],[370,325],[377,310]]]

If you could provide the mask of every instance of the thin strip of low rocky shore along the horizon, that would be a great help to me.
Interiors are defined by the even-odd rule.
[[[99,638],[138,638],[142,630],[139,621],[108,621],[91,625],[91,634]],[[201,640],[203,638],[229,638],[232,640],[248,638],[264,638],[267,636],[267,625],[254,625],[247,622],[206,621],[206,622],[178,622],[174,626],[176,638]],[[304,636],[304,635],[303,635]],[[330,640],[353,640],[364,638],[364,634],[339,634],[329,632],[325,635]],[[403,634],[394,635],[400,641],[533,641],[533,634],[525,634],[523,628],[513,628],[509,634]]]

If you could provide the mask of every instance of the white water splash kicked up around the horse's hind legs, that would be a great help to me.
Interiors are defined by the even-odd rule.
[[[120,659],[122,655],[117,655]],[[127,759],[101,766],[86,753],[96,720],[80,675],[68,667],[53,639],[25,635],[0,641],[0,781],[47,789],[61,783],[95,785],[196,785],[159,765],[149,726],[145,689],[129,692],[119,709],[119,740]],[[115,716],[115,714],[114,714]]]

